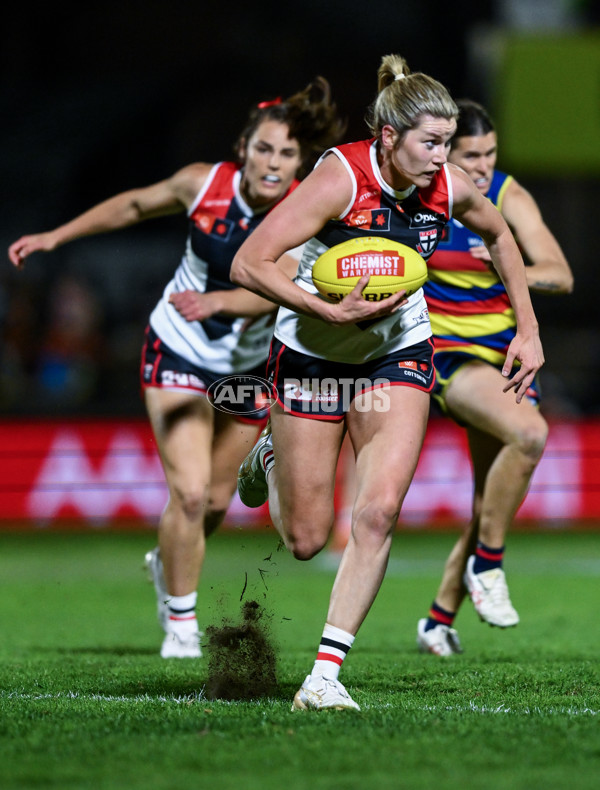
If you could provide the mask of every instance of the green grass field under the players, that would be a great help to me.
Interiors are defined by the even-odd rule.
[[[158,655],[148,532],[0,532],[0,787],[587,790],[600,783],[600,532],[515,533],[505,567],[521,624],[456,627],[465,653],[416,652],[453,541],[400,532],[342,670],[362,712],[290,712],[335,572],[272,531],[214,536],[202,624],[265,609],[278,691],[207,700],[207,660]],[[244,591],[245,588],[245,591]]]

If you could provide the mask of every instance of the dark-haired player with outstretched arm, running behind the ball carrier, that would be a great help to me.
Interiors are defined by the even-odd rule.
[[[222,521],[238,466],[266,419],[264,404],[254,397],[236,412],[211,405],[212,388],[224,376],[264,376],[272,334],[272,301],[235,288],[231,261],[344,128],[329,84],[317,77],[286,100],[252,108],[236,146],[238,161],[191,164],[152,186],[109,198],[52,231],[24,236],[9,249],[13,264],[22,267],[31,253],[81,236],[178,211],[188,214],[185,252],[150,316],[141,366],[169,488],[159,547],[146,555],[165,631],[165,658],[201,655],[196,598],[205,538]],[[280,264],[292,277],[299,256],[285,253]]]

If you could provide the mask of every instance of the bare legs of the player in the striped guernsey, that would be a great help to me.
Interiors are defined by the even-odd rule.
[[[446,391],[450,413],[468,426],[475,476],[473,519],[448,558],[436,595],[449,611],[457,611],[464,597],[462,575],[476,541],[504,545],[546,443],[544,418],[531,403],[517,404],[512,393],[503,393],[504,382],[491,365],[472,362]]]

